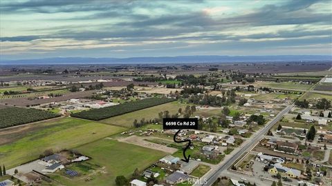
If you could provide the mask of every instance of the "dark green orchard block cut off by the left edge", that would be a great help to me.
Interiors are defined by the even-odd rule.
[[[48,118],[55,118],[57,116],[59,115],[43,110],[7,107],[0,110],[0,128],[42,121]]]

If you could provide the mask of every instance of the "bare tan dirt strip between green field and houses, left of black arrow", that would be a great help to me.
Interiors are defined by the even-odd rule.
[[[138,137],[138,136],[129,136],[126,138],[118,138],[118,141],[124,142],[124,143],[131,143],[134,145],[139,145],[141,147],[147,147],[150,149],[156,149],[160,150],[163,152],[167,152],[169,154],[173,154],[174,152],[178,151],[178,149],[173,148],[173,147],[167,147],[165,145],[160,145],[157,143],[151,143],[149,141],[145,141],[145,139],[153,139],[154,137]],[[160,138],[155,138],[155,139],[160,139]]]

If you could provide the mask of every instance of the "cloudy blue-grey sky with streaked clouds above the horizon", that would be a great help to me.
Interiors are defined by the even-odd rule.
[[[0,1],[0,59],[332,54],[332,1]]]

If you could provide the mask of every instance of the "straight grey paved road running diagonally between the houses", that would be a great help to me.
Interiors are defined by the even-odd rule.
[[[284,114],[288,113],[293,108],[293,106],[294,105],[288,105],[288,107],[282,110],[282,112],[279,112],[279,114],[277,114],[277,116],[275,116],[275,118],[272,121],[269,121],[265,127],[261,128],[259,132],[256,132],[252,138],[248,139],[240,147],[237,147],[237,149],[234,149],[234,154],[232,154],[233,156],[230,156],[230,158],[228,159],[225,158],[225,160],[221,162],[218,166],[216,166],[212,171],[210,171],[210,173],[205,174],[205,176],[203,176],[199,180],[199,182],[195,184],[195,186],[212,185],[212,183],[214,183],[214,181],[219,177],[221,172],[223,172],[225,169],[228,169],[228,167],[230,167],[235,161],[237,161],[237,159],[240,156],[242,156],[242,154],[249,151],[253,145],[258,143],[261,140],[261,138],[264,136],[264,134],[268,132],[270,127],[275,125],[275,123],[277,123],[282,118],[282,116],[284,116]]]

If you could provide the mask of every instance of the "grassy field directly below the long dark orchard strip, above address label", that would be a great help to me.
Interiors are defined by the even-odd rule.
[[[154,118],[158,118],[159,112],[164,112],[165,110],[169,111],[169,114],[176,114],[178,112],[178,109],[181,107],[182,110],[185,110],[185,104],[178,103],[177,101],[166,103],[163,105],[157,105],[154,107],[149,107],[143,110],[138,110],[135,112],[130,112],[127,114],[122,114],[121,116],[114,116],[111,118],[107,118],[104,120],[101,120],[102,123],[109,123],[113,125],[121,125],[124,127],[132,127],[133,126],[133,120],[137,119],[140,121],[142,118],[145,118],[145,120],[150,120]]]

